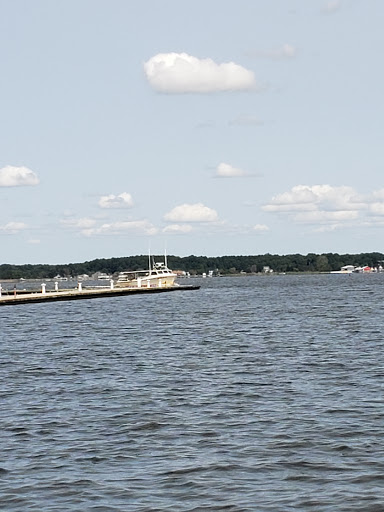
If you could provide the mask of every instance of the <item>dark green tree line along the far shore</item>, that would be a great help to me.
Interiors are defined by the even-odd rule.
[[[164,260],[164,256],[155,256],[155,261]],[[379,267],[383,264],[384,254],[379,252],[360,254],[323,253],[302,254],[263,254],[256,256],[168,256],[168,266],[172,270],[201,275],[213,271],[214,274],[255,274],[269,267],[274,272],[328,272],[340,270],[344,265]],[[96,272],[116,274],[124,270],[143,270],[148,268],[148,256],[126,256],[122,258],[95,259],[83,263],[65,265],[0,265],[0,279],[40,279],[76,277],[82,274],[91,276]]]

